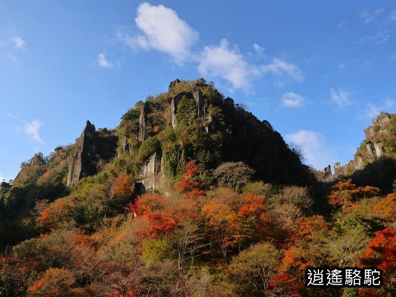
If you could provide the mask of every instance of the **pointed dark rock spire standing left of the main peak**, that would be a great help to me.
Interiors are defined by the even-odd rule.
[[[69,160],[67,189],[71,189],[81,178],[96,174],[96,162],[99,159],[108,160],[114,156],[117,137],[113,132],[107,134],[99,136],[95,125],[87,121],[81,136],[76,140],[73,157]]]

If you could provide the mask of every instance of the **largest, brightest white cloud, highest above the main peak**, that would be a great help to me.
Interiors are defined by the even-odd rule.
[[[180,19],[176,11],[163,5],[141,3],[135,21],[143,35],[133,36],[118,30],[119,42],[132,49],[140,47],[165,52],[179,64],[191,57],[190,48],[197,42],[199,34]]]

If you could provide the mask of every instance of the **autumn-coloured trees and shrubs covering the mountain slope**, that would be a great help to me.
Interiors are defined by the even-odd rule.
[[[182,92],[173,128],[169,104]],[[74,146],[35,155],[0,189],[1,244],[10,245],[0,296],[393,296],[396,195],[348,179],[315,184],[268,122],[212,84],[180,82],[138,102],[117,134],[118,156],[98,159],[98,173],[70,192]],[[161,187],[137,195],[154,152]],[[305,268],[319,265],[376,265],[385,285],[305,288]]]

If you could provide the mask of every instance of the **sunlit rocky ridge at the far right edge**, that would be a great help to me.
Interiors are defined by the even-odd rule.
[[[377,119],[373,119],[372,126],[364,129],[366,139],[347,165],[341,166],[340,162],[334,164],[334,175],[339,177],[341,175],[351,175],[356,170],[363,170],[367,164],[373,163],[375,160],[381,158],[386,152],[386,143],[392,139],[390,136],[393,114],[382,113]]]

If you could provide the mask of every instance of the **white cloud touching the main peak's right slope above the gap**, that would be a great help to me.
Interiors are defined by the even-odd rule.
[[[305,163],[316,169],[322,170],[336,160],[333,149],[326,144],[324,136],[319,132],[298,130],[286,135],[286,140],[302,147],[305,153]]]

